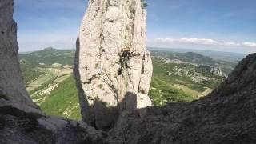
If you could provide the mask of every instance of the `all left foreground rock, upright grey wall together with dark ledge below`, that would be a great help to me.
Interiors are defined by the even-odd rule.
[[[107,135],[84,122],[42,114],[26,93],[13,6],[13,0],[0,0],[0,143],[104,143]]]

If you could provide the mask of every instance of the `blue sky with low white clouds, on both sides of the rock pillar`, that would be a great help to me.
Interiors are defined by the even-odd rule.
[[[74,49],[87,0],[14,0],[21,51]],[[256,52],[255,0],[147,0],[147,46]]]

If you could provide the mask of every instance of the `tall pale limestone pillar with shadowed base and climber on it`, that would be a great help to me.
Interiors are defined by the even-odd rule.
[[[90,0],[78,34],[74,75],[82,118],[107,129],[122,110],[150,106],[152,62],[141,0]]]

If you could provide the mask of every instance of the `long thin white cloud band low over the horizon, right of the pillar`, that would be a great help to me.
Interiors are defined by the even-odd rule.
[[[150,42],[150,40],[149,40]],[[216,41],[209,38],[155,38],[152,42],[156,44],[193,44],[193,45],[204,45],[204,46],[246,46],[246,47],[255,47],[256,43],[254,42],[225,42],[225,41]]]

